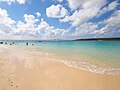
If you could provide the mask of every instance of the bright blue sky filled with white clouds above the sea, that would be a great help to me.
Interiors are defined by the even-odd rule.
[[[120,0],[0,0],[0,39],[120,37]]]

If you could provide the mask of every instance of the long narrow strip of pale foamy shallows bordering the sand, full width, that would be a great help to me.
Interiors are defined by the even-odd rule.
[[[101,66],[98,65],[97,62],[96,65],[93,64],[92,62],[82,59],[81,61],[78,60],[67,60],[65,58],[60,58],[58,55],[55,55],[53,53],[48,53],[48,52],[39,52],[37,51],[35,48],[33,48],[33,46],[8,46],[8,45],[2,45],[2,47],[6,48],[6,49],[17,49],[18,51],[21,51],[20,49],[22,49],[23,51],[29,53],[29,54],[37,54],[35,56],[37,56],[37,59],[39,58],[39,55],[45,55],[48,58],[54,58],[54,60],[49,60],[49,61],[54,61],[54,62],[58,62],[58,63],[63,63],[65,65],[67,65],[68,67],[72,67],[72,68],[77,68],[80,70],[85,70],[91,73],[97,73],[97,74],[110,74],[110,75],[114,75],[114,76],[120,76],[120,68],[116,68],[116,67],[106,67],[106,66]],[[20,48],[20,49],[19,49]],[[22,54],[22,53],[21,53]]]

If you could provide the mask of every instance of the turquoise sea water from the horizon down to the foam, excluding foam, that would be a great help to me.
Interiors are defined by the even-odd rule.
[[[32,43],[39,51],[120,66],[120,41],[30,42],[29,45]],[[25,45],[24,42],[17,44]]]

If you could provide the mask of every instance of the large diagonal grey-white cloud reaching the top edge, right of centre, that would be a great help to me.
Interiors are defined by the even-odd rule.
[[[60,22],[70,22],[73,27],[76,27],[95,17],[105,4],[106,0],[89,0],[82,3],[82,8],[76,10],[71,16],[61,19]]]

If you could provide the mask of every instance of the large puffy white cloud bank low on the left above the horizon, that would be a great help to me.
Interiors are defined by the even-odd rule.
[[[55,39],[62,38],[65,29],[50,26],[43,19],[31,14],[24,14],[23,21],[14,21],[5,9],[0,8],[1,39]]]

